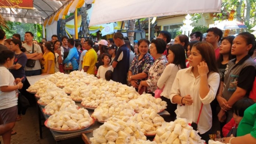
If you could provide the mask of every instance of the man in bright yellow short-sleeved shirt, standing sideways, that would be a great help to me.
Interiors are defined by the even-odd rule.
[[[94,67],[97,62],[97,53],[92,48],[92,40],[85,40],[84,48],[87,50],[83,58],[83,71],[92,75],[95,75]]]

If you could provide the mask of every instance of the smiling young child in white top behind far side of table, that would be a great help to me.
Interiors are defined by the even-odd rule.
[[[113,71],[114,68],[110,65],[111,57],[110,57],[109,54],[103,54],[102,57],[101,57],[101,60],[103,61],[104,65],[99,67],[98,72],[97,72],[97,77],[99,79],[103,78],[104,80],[106,80],[105,73],[108,70]]]

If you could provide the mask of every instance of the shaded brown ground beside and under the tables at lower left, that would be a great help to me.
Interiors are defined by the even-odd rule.
[[[47,127],[43,127],[43,139],[40,139],[38,113],[36,106],[28,108],[26,115],[22,116],[22,120],[17,122],[14,130],[16,135],[11,138],[11,144],[56,144],[52,137],[52,133]],[[2,141],[2,137],[0,137]],[[61,144],[84,144],[81,137],[64,140]]]

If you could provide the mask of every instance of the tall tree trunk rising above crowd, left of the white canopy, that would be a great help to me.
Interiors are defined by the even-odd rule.
[[[82,19],[82,33],[81,36],[87,37],[90,36],[88,23],[87,23],[87,7],[81,7],[80,9],[81,19]]]

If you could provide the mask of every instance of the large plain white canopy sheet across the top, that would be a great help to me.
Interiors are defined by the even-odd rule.
[[[176,14],[220,12],[221,0],[95,0],[89,26]]]

